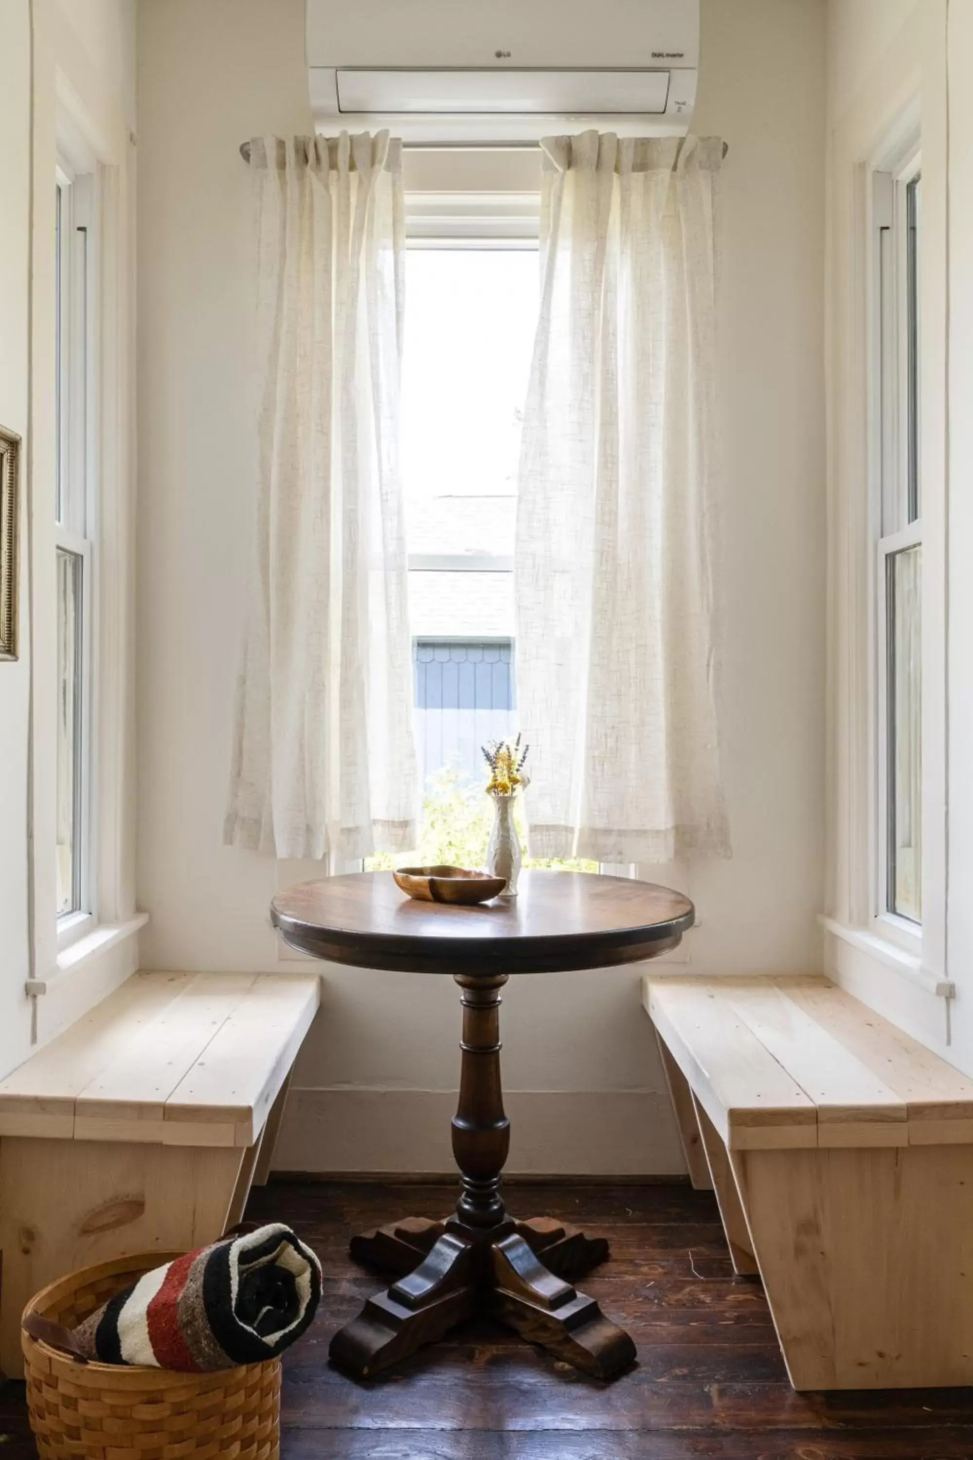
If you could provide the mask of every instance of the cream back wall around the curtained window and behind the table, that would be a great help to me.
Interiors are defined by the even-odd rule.
[[[302,0],[155,0],[140,12],[149,968],[279,967],[267,904],[302,870],[220,844],[252,485],[248,177],[236,149],[311,127],[302,16]],[[703,47],[697,130],[731,147],[721,635],[735,858],[689,873],[703,926],[686,949],[693,971],[807,971],[820,965],[823,863],[824,9],[703,0]],[[279,1165],[446,1169],[457,1038],[451,984],[327,969]],[[681,1168],[636,971],[513,981],[505,1077],[512,1171]]]

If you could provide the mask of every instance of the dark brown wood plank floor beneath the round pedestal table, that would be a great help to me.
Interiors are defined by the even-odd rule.
[[[584,1286],[635,1337],[639,1362],[588,1380],[490,1323],[458,1329],[366,1384],[328,1340],[381,1286],[349,1261],[352,1232],[436,1216],[449,1187],[271,1183],[248,1216],[290,1222],[319,1253],[324,1301],[284,1358],[283,1460],[972,1460],[973,1390],[795,1394],[756,1279],[734,1278],[716,1206],[684,1186],[513,1186],[611,1241]],[[23,1387],[0,1396],[0,1457],[34,1456]]]

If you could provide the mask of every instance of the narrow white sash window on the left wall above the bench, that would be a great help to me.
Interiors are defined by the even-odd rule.
[[[55,194],[57,917],[63,940],[93,910],[93,177],[58,166]]]

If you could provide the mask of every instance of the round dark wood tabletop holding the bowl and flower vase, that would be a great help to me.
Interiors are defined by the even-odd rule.
[[[480,907],[416,902],[389,872],[279,892],[271,920],[303,953],[359,968],[532,974],[656,958],[693,926],[689,898],[651,882],[585,872],[521,875],[515,898]]]

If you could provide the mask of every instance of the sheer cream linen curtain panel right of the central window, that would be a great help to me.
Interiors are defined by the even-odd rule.
[[[728,856],[709,569],[722,143],[541,146],[515,553],[531,851]]]

